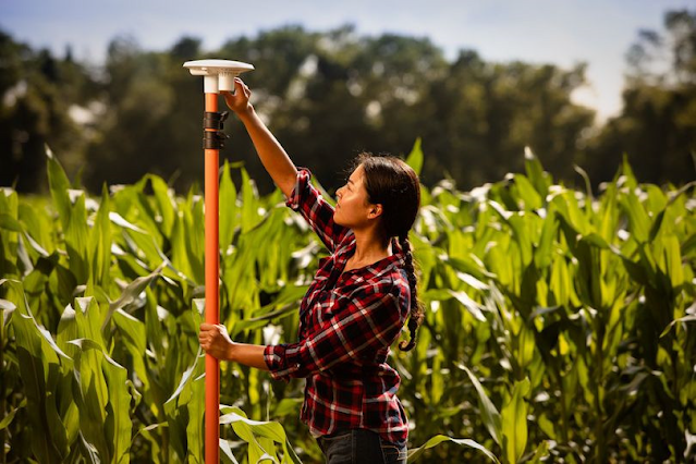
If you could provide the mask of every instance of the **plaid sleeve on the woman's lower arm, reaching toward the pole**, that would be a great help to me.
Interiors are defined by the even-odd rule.
[[[306,339],[266,346],[264,359],[272,378],[308,377],[391,346],[399,338],[408,312],[400,288],[369,285],[356,293],[346,308],[326,320]]]

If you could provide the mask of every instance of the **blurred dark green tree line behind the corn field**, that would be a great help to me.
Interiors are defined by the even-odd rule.
[[[639,30],[626,52],[621,113],[605,124],[572,101],[586,65],[492,62],[475,50],[448,60],[428,38],[364,36],[283,26],[204,50],[195,37],[148,51],[129,37],[90,66],[34,50],[0,32],[0,185],[46,188],[45,146],[90,191],[152,172],[178,191],[203,179],[200,78],[187,60],[254,63],[243,77],[253,103],[293,159],[328,188],[359,151],[402,155],[417,138],[423,180],[449,178],[468,190],[523,169],[529,146],[566,184],[595,187],[626,156],[643,182],[695,178],[696,11],[664,14],[662,30]],[[669,62],[668,68],[656,63]],[[223,105],[221,103],[223,107]],[[271,185],[239,121],[225,123],[223,158],[246,163],[259,188]]]

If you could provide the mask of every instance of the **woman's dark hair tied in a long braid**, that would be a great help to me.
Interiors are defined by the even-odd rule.
[[[417,283],[408,231],[413,227],[420,207],[420,182],[418,174],[402,159],[393,156],[358,155],[355,167],[362,166],[367,198],[382,206],[381,229],[384,241],[396,237],[405,256],[405,270],[411,288],[411,315],[408,330],[411,340],[402,341],[399,347],[410,351],[416,344],[416,331],[423,322],[423,305],[418,301]]]

